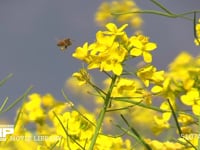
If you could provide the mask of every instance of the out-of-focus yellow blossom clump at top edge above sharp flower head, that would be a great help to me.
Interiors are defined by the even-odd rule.
[[[131,13],[139,10],[139,7],[133,0],[113,0],[112,2],[103,2],[96,12],[95,21],[98,25],[105,25],[110,21],[116,21],[116,23],[129,23],[132,27],[139,28],[143,23],[140,14]],[[126,14],[118,16],[113,15],[112,13]]]

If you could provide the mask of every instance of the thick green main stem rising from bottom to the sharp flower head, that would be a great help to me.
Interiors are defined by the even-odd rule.
[[[99,114],[99,118],[97,120],[97,126],[95,128],[95,132],[94,132],[94,135],[92,137],[89,150],[93,150],[94,149],[94,145],[95,145],[97,137],[99,135],[99,131],[101,129],[101,126],[102,126],[102,123],[103,123],[103,119],[104,119],[106,111],[107,111],[107,109],[108,109],[108,107],[110,106],[110,103],[111,103],[111,94],[112,94],[112,90],[114,88],[116,79],[117,79],[117,76],[114,75],[113,78],[112,78],[108,93],[106,94],[106,97],[105,97],[104,106],[103,106],[103,108],[102,108],[102,110],[101,110],[101,112]]]

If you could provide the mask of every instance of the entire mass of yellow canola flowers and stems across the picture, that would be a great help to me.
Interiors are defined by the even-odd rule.
[[[67,84],[83,99],[90,95],[85,101],[93,101],[94,109],[74,106],[65,94],[67,101],[61,102],[51,94],[32,93],[17,112],[14,134],[0,141],[0,149],[198,149],[200,56],[181,52],[168,70],[158,70],[152,64],[158,44],[142,32],[126,32],[129,26],[141,26],[140,15],[127,13],[139,10],[132,0],[103,2],[95,18],[105,29],[72,54],[86,67],[73,73]],[[195,27],[194,43],[199,46],[200,23]],[[142,65],[133,67],[141,60]],[[103,86],[90,74],[93,69],[106,75]],[[36,135],[48,138],[10,138]]]

